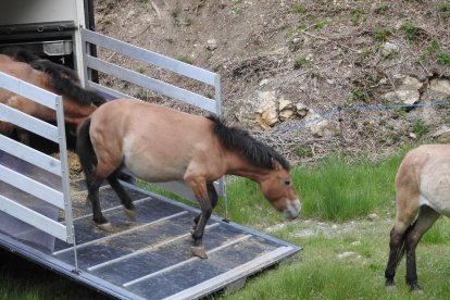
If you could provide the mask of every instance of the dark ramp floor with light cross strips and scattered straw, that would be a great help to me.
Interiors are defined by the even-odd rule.
[[[197,209],[125,184],[138,213],[125,215],[110,186],[100,190],[114,233],[98,230],[84,185],[72,187],[74,246],[55,241],[53,252],[0,234],[0,245],[120,299],[192,299],[224,289],[301,250],[296,245],[212,216],[203,237],[207,260],[191,255],[189,228]]]

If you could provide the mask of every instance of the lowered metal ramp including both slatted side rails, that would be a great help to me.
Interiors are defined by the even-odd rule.
[[[88,30],[80,29],[80,34],[86,39],[85,50],[86,43],[97,42],[159,67],[166,66],[170,71],[212,85],[215,99],[149,79],[88,54],[85,58],[86,78],[87,68],[99,70],[220,115],[217,74]],[[89,80],[87,85],[122,96]],[[40,135],[48,135],[51,129],[48,138],[59,143],[61,150],[60,161],[0,135],[1,247],[118,299],[199,298],[245,282],[249,275],[301,250],[296,245],[212,216],[203,239],[209,259],[193,258],[189,228],[199,210],[127,183],[123,184],[135,202],[137,220],[126,217],[115,193],[105,185],[100,190],[100,201],[103,213],[116,232],[98,230],[91,221],[91,210],[85,204],[87,192],[84,184],[76,182],[68,186],[61,97],[48,92],[42,96],[36,87],[15,82],[4,74],[0,74],[0,87],[25,92],[28,98],[45,101],[57,110],[58,126],[42,127],[38,123],[38,127],[30,125],[29,129]],[[17,116],[4,105],[0,105],[0,118],[18,125],[36,122],[23,114]],[[15,162],[9,165],[11,157],[26,161],[26,166]],[[32,171],[28,172],[30,174],[26,174],[26,170]],[[191,192],[183,185],[163,187],[191,198]],[[225,182],[218,182],[216,189],[224,196]],[[39,198],[33,199],[39,205],[29,205],[30,195]],[[7,218],[17,220],[11,226],[2,223]],[[48,242],[42,243],[42,240]]]

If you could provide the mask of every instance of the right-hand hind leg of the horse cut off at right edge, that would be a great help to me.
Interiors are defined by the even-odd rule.
[[[415,248],[421,240],[422,236],[435,224],[439,218],[439,214],[427,205],[421,207],[417,220],[412,226],[411,230],[408,230],[405,236],[405,250],[407,250],[407,284],[411,287],[411,290],[421,289],[417,284],[417,271],[415,264]]]

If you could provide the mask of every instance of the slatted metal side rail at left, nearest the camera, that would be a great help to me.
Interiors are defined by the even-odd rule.
[[[0,180],[63,210],[65,214],[65,225],[30,210],[21,203],[17,203],[13,199],[2,195],[2,191],[0,191],[0,211],[3,211],[7,214],[14,216],[53,237],[74,243],[75,237],[70,197],[68,164],[62,98],[61,96],[54,95],[1,72],[0,88],[26,97],[30,101],[35,101],[54,110],[57,113],[58,126],[54,126],[9,105],[0,103],[0,122],[12,123],[58,143],[60,149],[59,160],[28,146],[20,143],[2,134],[0,134],[0,150],[61,177],[62,190],[41,184],[2,164],[0,164]]]

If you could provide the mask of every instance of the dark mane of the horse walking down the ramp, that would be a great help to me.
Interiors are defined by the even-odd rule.
[[[214,134],[217,135],[224,148],[238,150],[248,162],[258,167],[272,170],[273,160],[275,160],[287,171],[290,170],[289,162],[282,154],[251,137],[248,132],[228,127],[214,115],[210,115],[208,118],[214,122]]]

